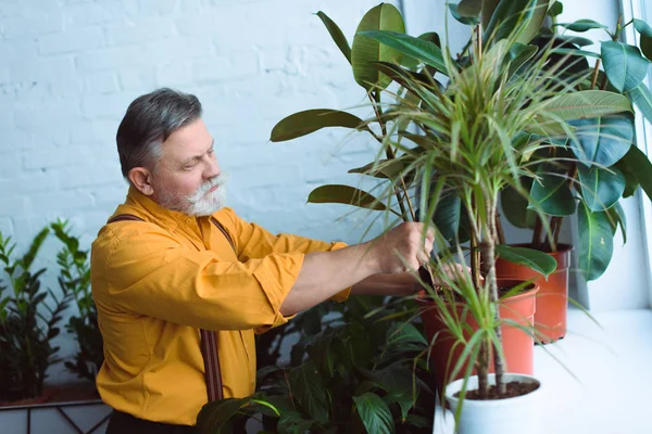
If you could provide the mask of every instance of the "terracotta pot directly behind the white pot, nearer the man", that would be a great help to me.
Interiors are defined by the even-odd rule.
[[[507,288],[515,286],[518,283],[522,282],[506,279],[501,279],[498,282],[499,286]],[[502,299],[500,303],[500,317],[503,319],[511,319],[518,324],[531,328],[535,319],[535,295],[537,291],[539,291],[537,284],[532,283],[531,289]],[[435,386],[441,392],[446,383],[461,379],[464,375],[464,369],[462,369],[455,378],[451,378],[451,372],[462,356],[464,348],[462,345],[457,345],[453,349],[455,339],[441,321],[435,302],[417,299],[417,304],[422,308],[421,317],[426,330],[426,336],[428,342],[432,345],[430,365],[435,376]],[[456,309],[457,312],[462,315],[464,305],[459,304]],[[476,322],[471,318],[471,314],[468,314],[466,320],[472,329],[477,330]],[[507,324],[502,326],[501,331],[506,372],[531,375],[535,370],[535,345],[531,334]],[[493,372],[493,362],[491,362],[489,371]],[[473,374],[476,373],[477,372],[474,369]]]

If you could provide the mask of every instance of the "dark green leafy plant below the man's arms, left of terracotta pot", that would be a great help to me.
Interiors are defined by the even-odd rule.
[[[349,305],[325,327],[317,322],[301,335],[289,366],[259,369],[255,395],[204,406],[200,430],[235,432],[238,418],[241,423],[262,416],[267,432],[380,433],[396,426],[427,433],[435,396],[425,361],[414,362],[427,342],[408,321],[409,307],[387,306],[378,297],[356,297]]]

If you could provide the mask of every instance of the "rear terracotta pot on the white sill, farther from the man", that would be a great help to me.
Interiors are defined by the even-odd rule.
[[[514,246],[529,247],[529,244]],[[548,280],[527,267],[501,258],[496,261],[498,279],[534,280],[539,284],[535,329],[542,344],[549,344],[566,335],[570,252],[573,252],[572,245],[560,244],[556,252],[549,253],[557,261],[557,268]]]

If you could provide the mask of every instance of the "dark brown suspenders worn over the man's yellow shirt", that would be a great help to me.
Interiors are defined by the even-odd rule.
[[[121,214],[110,219],[108,224],[124,220],[145,221],[142,218],[136,217],[131,214]],[[236,251],[234,240],[224,226],[222,226],[222,224],[220,224],[220,221],[217,221],[217,219],[214,217],[211,217],[211,222],[215,225],[217,229],[220,229],[224,237],[226,237],[230,246],[234,248],[234,251]],[[199,333],[201,336],[201,356],[204,360],[206,391],[209,393],[209,403],[211,403],[223,398],[222,373],[220,371],[220,356],[217,354],[217,334],[213,330],[204,329],[200,329]]]

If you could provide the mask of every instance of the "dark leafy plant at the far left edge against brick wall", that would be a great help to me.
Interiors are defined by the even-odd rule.
[[[59,347],[52,346],[51,341],[59,335],[57,324],[70,296],[65,291],[61,297],[51,290],[43,291],[40,279],[46,269],[32,269],[49,232],[48,228],[42,229],[17,258],[13,257],[15,244],[11,238],[0,233],[0,261],[7,275],[7,283],[0,285],[1,401],[39,397],[46,370],[60,361]]]

